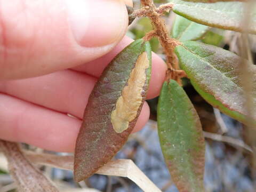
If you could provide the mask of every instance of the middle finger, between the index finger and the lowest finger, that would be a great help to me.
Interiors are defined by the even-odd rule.
[[[96,81],[95,77],[66,69],[41,77],[0,82],[0,92],[82,119]],[[161,86],[161,82],[158,84]],[[154,90],[149,92],[155,94]]]

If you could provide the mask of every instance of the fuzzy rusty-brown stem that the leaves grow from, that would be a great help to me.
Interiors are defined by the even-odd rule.
[[[161,43],[164,53],[166,54],[167,64],[167,79],[174,79],[181,84],[180,73],[175,71],[179,70],[179,63],[176,55],[174,54],[174,48],[181,43],[174,38],[169,37],[169,33],[166,29],[164,20],[160,17],[164,11],[172,8],[172,4],[165,4],[160,6],[158,9],[154,5],[152,0],[141,0],[143,15],[146,15],[154,26],[154,33],[158,36],[159,42]]]

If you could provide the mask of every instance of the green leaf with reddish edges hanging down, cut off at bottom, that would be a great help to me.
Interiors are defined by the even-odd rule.
[[[179,191],[203,192],[202,126],[186,92],[174,80],[163,84],[157,124],[165,162]]]

